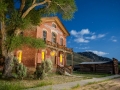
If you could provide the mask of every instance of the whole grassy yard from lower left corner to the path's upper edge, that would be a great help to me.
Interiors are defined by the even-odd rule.
[[[38,80],[33,78],[25,78],[24,80],[19,80],[19,79],[3,80],[0,78],[0,90],[28,89],[28,88],[47,86],[47,85],[60,84],[65,82],[73,82],[82,79],[83,78],[80,77],[69,77],[65,75],[56,75],[53,73],[49,74],[43,80]]]

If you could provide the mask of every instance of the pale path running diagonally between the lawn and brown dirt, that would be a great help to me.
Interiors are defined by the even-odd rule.
[[[98,81],[113,79],[116,77],[120,77],[120,75],[107,76],[107,77],[103,77],[103,78],[93,78],[93,79],[68,82],[68,83],[57,84],[57,85],[49,85],[49,86],[44,86],[44,87],[30,88],[27,90],[70,90],[72,87],[75,87],[76,85],[83,86],[83,85],[86,85],[86,84],[91,83],[91,82],[98,82]],[[78,90],[81,90],[81,89],[78,89]],[[104,89],[101,89],[101,90],[104,90]]]

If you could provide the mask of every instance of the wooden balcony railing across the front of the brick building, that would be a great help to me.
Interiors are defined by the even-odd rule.
[[[53,46],[53,47],[56,47],[56,48],[59,48],[59,49],[63,49],[63,50],[69,51],[69,52],[73,52],[73,50],[71,48],[67,48],[67,47],[65,47],[65,45],[60,45],[58,43],[52,43],[50,41],[45,41],[45,43],[47,45],[50,45],[50,46]]]

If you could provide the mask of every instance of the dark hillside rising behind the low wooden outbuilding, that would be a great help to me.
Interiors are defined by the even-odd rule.
[[[76,65],[78,63],[81,62],[96,62],[96,61],[110,61],[111,59],[107,58],[107,57],[102,57],[102,56],[98,56],[92,52],[78,52],[73,54],[73,64]],[[71,55],[68,54],[67,56],[67,64],[71,65]]]

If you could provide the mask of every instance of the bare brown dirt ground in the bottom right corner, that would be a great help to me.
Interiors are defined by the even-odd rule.
[[[120,90],[120,78],[106,80],[99,83],[88,83],[85,86],[79,86],[74,90]]]

